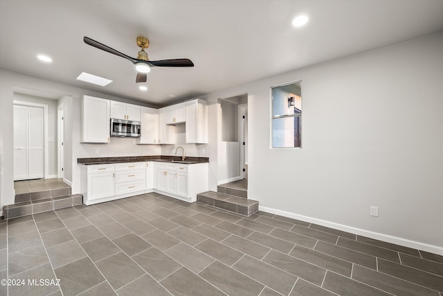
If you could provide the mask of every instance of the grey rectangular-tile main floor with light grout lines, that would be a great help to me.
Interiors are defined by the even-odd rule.
[[[9,296],[443,296],[443,256],[150,193],[2,220],[0,279]]]

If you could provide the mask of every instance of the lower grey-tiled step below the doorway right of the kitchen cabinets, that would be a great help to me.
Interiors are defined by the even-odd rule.
[[[251,216],[258,211],[257,200],[249,200],[247,198],[239,198],[225,193],[215,191],[206,191],[197,194],[197,202],[209,204],[213,207],[219,207],[228,211],[233,211],[245,216]]]

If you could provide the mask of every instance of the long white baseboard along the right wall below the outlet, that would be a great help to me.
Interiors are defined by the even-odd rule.
[[[411,247],[413,249],[422,250],[422,251],[430,252],[430,253],[437,254],[437,255],[443,255],[443,247],[439,247],[437,245],[428,245],[427,243],[420,243],[418,241],[410,241],[406,238],[400,238],[397,236],[390,236],[388,234],[380,234],[378,232],[371,232],[371,231],[365,230],[365,229],[360,229],[360,228],[351,227],[351,226],[347,226],[347,225],[343,225],[343,224],[329,222],[326,220],[321,220],[321,219],[312,218],[312,217],[308,217],[308,216],[293,214],[288,211],[281,211],[281,210],[272,209],[269,207],[259,206],[258,209],[260,211],[266,211],[271,214],[277,214],[277,215],[288,217],[288,218],[293,218],[293,219],[302,220],[302,221],[309,222],[309,223],[315,223],[315,224],[322,225],[322,226],[329,227],[329,228],[338,229],[343,232],[350,232],[352,234],[358,234],[361,236],[366,236],[368,238],[374,238],[379,241],[386,241],[388,243],[395,243],[396,245],[403,245],[404,247]]]

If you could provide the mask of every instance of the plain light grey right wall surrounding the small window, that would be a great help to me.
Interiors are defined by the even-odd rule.
[[[302,148],[272,149],[270,88],[296,80]],[[442,84],[439,33],[204,98],[248,94],[248,196],[260,209],[443,254]]]

